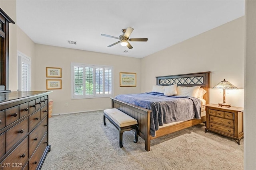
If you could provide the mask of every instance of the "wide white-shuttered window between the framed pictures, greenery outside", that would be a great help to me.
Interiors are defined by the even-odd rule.
[[[113,67],[71,63],[72,99],[113,96]]]

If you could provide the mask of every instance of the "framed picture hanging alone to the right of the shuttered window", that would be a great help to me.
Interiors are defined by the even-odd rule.
[[[120,87],[136,87],[136,73],[120,72]]]

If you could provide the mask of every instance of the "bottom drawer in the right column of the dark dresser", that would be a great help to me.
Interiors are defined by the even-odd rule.
[[[44,135],[44,138],[42,139],[42,141],[40,142],[39,146],[37,147],[36,151],[34,152],[34,154],[31,156],[30,160],[29,160],[29,169],[31,170],[35,170],[36,167],[38,166],[38,163],[44,153],[44,150],[46,149],[47,145],[48,145],[48,138],[47,138],[47,133]]]

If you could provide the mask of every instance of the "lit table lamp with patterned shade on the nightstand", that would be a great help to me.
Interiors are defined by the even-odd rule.
[[[223,89],[223,103],[219,103],[218,106],[230,107],[231,105],[226,103],[226,89],[232,90],[238,88],[224,79],[223,81],[219,82],[216,86],[214,86],[213,89]]]

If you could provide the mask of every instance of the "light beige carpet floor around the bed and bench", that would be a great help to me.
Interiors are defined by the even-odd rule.
[[[53,116],[49,119],[48,152],[42,170],[242,170],[243,145],[215,133],[204,133],[196,125],[151,141],[144,149],[134,132],[123,134],[119,147],[118,130],[103,111]]]

